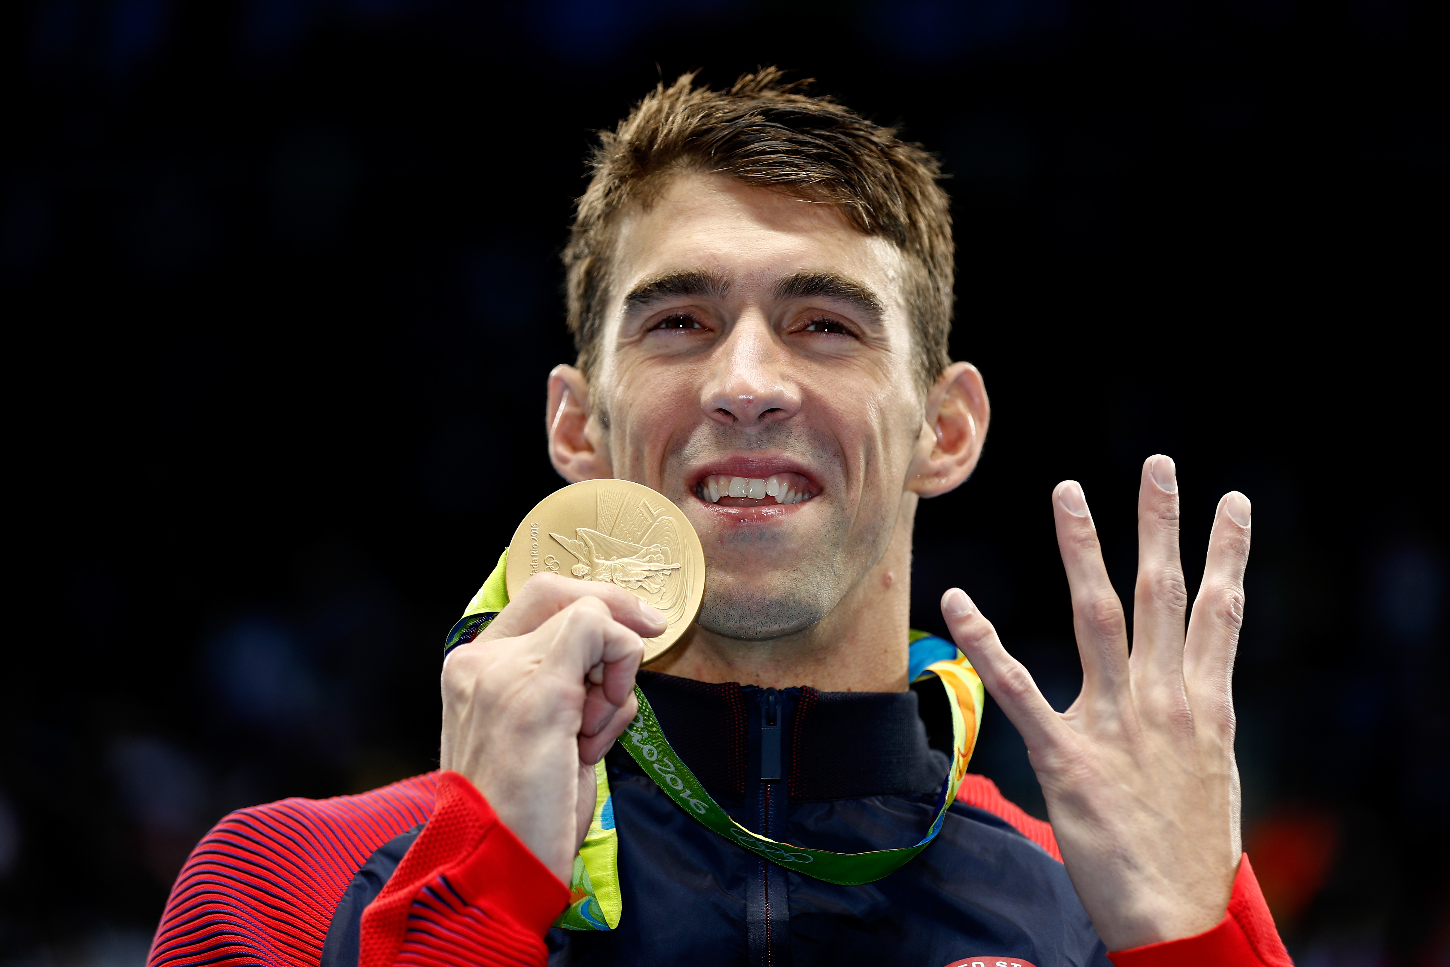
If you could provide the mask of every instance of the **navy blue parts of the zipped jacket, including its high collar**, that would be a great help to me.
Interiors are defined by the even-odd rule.
[[[909,847],[931,825],[951,748],[950,709],[931,681],[905,693],[777,692],[641,671],[639,684],[674,751],[748,829],[861,852]],[[618,745],[606,764],[624,912],[613,931],[550,931],[551,964],[1108,967],[1063,864],[989,812],[954,803],[900,870],[835,886],[706,829]],[[361,910],[415,835],[380,848],[354,879],[323,967],[357,964]]]

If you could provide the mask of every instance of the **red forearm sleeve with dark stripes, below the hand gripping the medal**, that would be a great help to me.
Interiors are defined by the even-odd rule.
[[[358,967],[548,961],[568,887],[458,773],[441,773],[428,826],[362,913]]]

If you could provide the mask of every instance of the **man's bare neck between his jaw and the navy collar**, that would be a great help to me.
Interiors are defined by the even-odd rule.
[[[905,692],[915,516],[916,496],[903,494],[886,551],[816,625],[766,641],[726,638],[695,625],[650,663],[650,671],[763,689]]]

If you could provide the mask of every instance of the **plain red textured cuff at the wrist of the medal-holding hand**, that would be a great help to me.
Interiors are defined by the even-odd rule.
[[[439,773],[438,802],[393,877],[362,910],[360,967],[390,967],[419,892],[444,877],[460,897],[519,932],[542,938],[568,905],[568,887],[538,861],[458,773]]]

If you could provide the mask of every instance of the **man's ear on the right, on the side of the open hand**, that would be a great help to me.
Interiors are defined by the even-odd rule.
[[[956,490],[977,467],[992,406],[977,367],[953,362],[927,394],[927,419],[906,489],[935,497]]]

